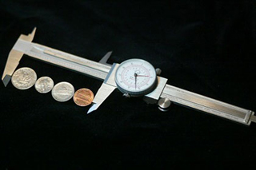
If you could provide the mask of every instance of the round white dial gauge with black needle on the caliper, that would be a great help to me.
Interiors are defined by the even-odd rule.
[[[123,61],[115,74],[115,82],[122,93],[142,96],[156,85],[157,76],[153,65],[142,59]]]

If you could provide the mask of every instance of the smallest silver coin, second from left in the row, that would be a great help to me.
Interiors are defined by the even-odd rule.
[[[54,81],[50,77],[40,77],[35,82],[34,88],[39,93],[48,93],[54,87]]]

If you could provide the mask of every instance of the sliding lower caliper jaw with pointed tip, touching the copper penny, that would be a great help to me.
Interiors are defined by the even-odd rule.
[[[102,86],[98,89],[94,97],[94,101],[87,114],[93,112],[98,109],[100,105],[102,105],[103,101],[106,100],[107,97],[117,88],[117,85],[114,81],[116,70],[118,69],[119,64],[114,63],[110,69],[110,72],[107,74]]]

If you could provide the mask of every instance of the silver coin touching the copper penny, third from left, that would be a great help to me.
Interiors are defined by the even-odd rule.
[[[74,87],[69,82],[59,82],[54,85],[51,95],[56,101],[69,101],[74,96]]]

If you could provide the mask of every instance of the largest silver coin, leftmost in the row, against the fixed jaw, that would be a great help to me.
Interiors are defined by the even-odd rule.
[[[30,89],[36,80],[37,74],[28,67],[17,69],[11,77],[11,83],[17,89]]]

